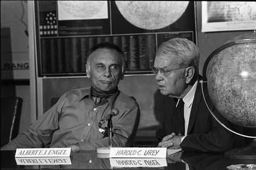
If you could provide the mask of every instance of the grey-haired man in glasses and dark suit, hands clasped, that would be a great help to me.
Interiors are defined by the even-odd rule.
[[[156,131],[158,147],[224,152],[245,146],[244,140],[239,143],[239,136],[222,127],[210,114],[201,91],[199,61],[199,49],[187,39],[171,39],[156,52],[152,70],[161,94],[165,95],[162,127]],[[221,116],[208,95],[206,98],[222,123],[236,128]]]

